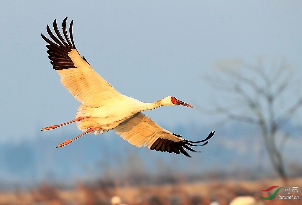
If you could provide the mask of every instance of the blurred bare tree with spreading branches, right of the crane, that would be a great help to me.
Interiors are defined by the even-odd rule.
[[[282,150],[289,133],[281,128],[302,107],[300,90],[289,86],[293,67],[285,60],[265,63],[259,59],[256,65],[221,61],[215,69],[215,76],[207,79],[217,91],[227,92],[223,105],[214,103],[215,113],[259,126],[272,166],[286,181]],[[283,135],[281,146],[276,142],[277,133]]]

